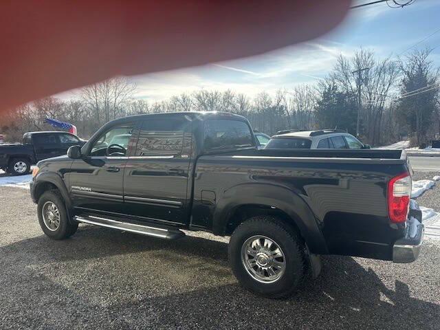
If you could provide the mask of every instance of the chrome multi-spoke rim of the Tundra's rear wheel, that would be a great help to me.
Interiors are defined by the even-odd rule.
[[[286,259],[280,245],[267,236],[252,236],[241,247],[241,262],[256,281],[274,283],[286,269]]]

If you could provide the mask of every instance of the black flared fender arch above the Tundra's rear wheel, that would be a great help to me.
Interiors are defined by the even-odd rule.
[[[314,213],[295,192],[274,184],[242,184],[223,193],[214,212],[212,231],[229,235],[237,225],[259,214],[274,214],[292,225],[309,250],[328,253]]]

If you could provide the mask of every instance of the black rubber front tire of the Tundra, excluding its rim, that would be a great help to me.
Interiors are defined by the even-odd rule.
[[[59,225],[58,227],[52,229],[49,224],[45,223],[45,218],[43,217],[43,207],[45,204],[49,206],[50,203],[53,203],[56,206],[56,209],[59,212]],[[73,234],[75,234],[78,229],[78,223],[70,223],[69,218],[67,217],[67,210],[65,208],[65,203],[60,195],[55,190],[49,190],[43,193],[39,199],[38,208],[37,208],[40,227],[43,232],[50,237],[50,239],[67,239]],[[46,221],[47,217],[46,217]]]

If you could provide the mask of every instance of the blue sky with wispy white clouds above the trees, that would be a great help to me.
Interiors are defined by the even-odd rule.
[[[355,0],[353,5],[371,1]],[[440,66],[439,17],[440,0],[415,0],[404,8],[377,3],[351,10],[338,28],[319,39],[260,56],[133,76],[130,80],[136,85],[135,98],[155,102],[199,89],[231,89],[252,97],[261,91],[273,94],[277,89],[316,83],[327,76],[340,54],[351,56],[360,47],[373,50],[380,58],[396,58],[428,46],[434,48],[432,61]],[[71,91],[60,96],[75,95],[76,91]]]

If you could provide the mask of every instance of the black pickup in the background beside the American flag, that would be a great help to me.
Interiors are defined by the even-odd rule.
[[[0,169],[12,175],[28,174],[30,166],[42,159],[65,155],[70,146],[83,146],[85,141],[65,132],[29,132],[23,144],[0,146]]]

